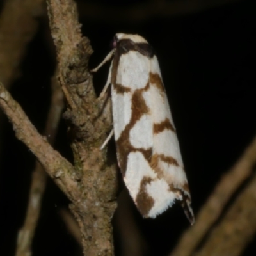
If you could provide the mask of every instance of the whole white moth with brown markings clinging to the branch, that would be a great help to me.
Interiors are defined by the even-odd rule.
[[[92,71],[113,58],[102,93],[111,84],[113,131],[125,185],[144,217],[155,218],[178,200],[192,225],[188,181],[157,57],[139,35],[117,33],[113,46]]]

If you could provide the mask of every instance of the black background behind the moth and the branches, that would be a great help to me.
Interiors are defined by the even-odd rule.
[[[100,3],[125,8],[131,1]],[[55,57],[47,20],[39,21],[38,33],[28,45],[21,64],[22,77],[15,81],[11,93],[36,128],[43,131]],[[255,135],[254,1],[238,1],[198,13],[151,18],[140,23],[97,22],[86,17],[80,21],[83,35],[90,38],[95,51],[90,60],[92,68],[108,54],[109,42],[117,32],[138,33],[154,47],[177,128],[193,209],[198,212],[221,175]],[[105,67],[95,76],[98,93],[107,72]],[[3,255],[13,255],[17,230],[25,216],[35,157],[17,141],[7,118],[3,125],[0,248]],[[62,120],[55,148],[72,159],[65,131]],[[49,180],[33,244],[34,255],[74,255],[79,250],[60,218],[59,211],[67,204],[68,200]],[[156,220],[143,220],[134,206],[133,209],[150,255],[167,255],[189,226],[179,206]],[[119,255],[118,232],[115,235],[116,255]],[[252,241],[243,255],[255,253]]]

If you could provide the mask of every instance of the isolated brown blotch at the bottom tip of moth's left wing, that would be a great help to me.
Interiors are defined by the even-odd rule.
[[[143,177],[140,183],[140,190],[136,197],[135,203],[140,211],[141,215],[147,217],[148,212],[154,206],[154,199],[148,195],[146,186],[152,182],[152,178]]]

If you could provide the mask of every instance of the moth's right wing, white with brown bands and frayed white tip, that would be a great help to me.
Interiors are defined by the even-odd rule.
[[[156,56],[150,64],[150,100],[154,120],[151,166],[157,173],[157,180],[147,185],[147,192],[155,202],[148,216],[154,218],[171,207],[175,200],[180,200],[193,223],[188,181]]]

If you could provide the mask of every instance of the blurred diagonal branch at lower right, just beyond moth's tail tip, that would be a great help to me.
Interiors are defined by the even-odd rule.
[[[252,174],[253,165],[255,163],[256,137],[231,170],[223,175],[212,192],[212,195],[198,213],[195,225],[184,232],[175,250],[170,253],[170,256],[191,255],[196,246],[202,241],[209,228],[211,228],[214,222],[219,218],[225,205],[236,189]]]

